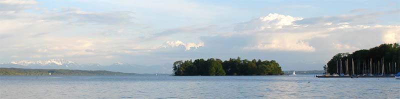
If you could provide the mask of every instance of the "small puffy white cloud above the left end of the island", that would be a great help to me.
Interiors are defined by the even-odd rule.
[[[204,46],[204,42],[199,42],[198,44],[196,44],[193,42],[184,43],[180,40],[166,41],[162,47],[167,47],[167,46],[177,47],[180,45],[183,45],[185,47],[185,50],[190,50],[191,47],[194,47],[197,49],[198,47]]]

